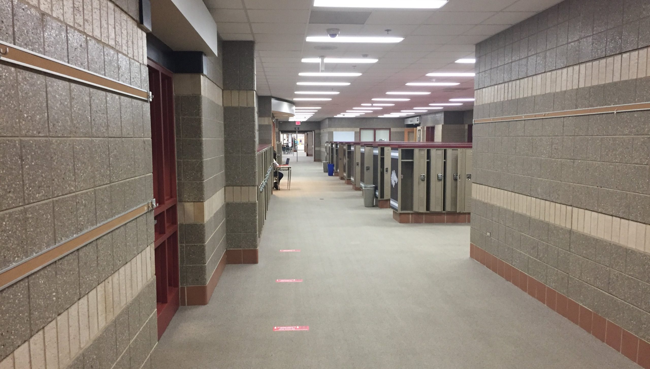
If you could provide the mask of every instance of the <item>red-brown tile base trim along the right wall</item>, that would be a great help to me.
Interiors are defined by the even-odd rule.
[[[469,257],[499,274],[506,281],[519,287],[521,291],[536,298],[556,313],[571,320],[573,324],[577,324],[634,363],[645,369],[650,369],[650,343],[489,254],[475,244],[469,244]]]

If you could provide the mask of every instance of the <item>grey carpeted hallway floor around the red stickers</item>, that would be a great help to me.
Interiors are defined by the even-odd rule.
[[[322,163],[292,165],[259,264],[227,265],[209,305],[179,309],[156,369],[638,368],[469,259],[469,226],[398,224]]]

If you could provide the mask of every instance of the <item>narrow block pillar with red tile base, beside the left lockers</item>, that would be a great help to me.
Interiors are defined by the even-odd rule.
[[[255,43],[223,47],[228,263],[257,263],[257,94]]]

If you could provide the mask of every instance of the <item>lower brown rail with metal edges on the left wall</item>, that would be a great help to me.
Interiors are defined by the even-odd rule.
[[[97,239],[98,237],[109,233],[119,226],[122,226],[123,224],[126,224],[133,219],[136,219],[152,208],[153,207],[151,205],[151,202],[138,206],[138,208],[127,211],[127,213],[124,213],[119,217],[109,220],[99,226],[96,226],[95,228],[91,228],[90,230],[81,233],[80,235],[76,235],[68,241],[64,241],[63,243],[55,245],[48,250],[45,250],[41,254],[31,257],[30,259],[26,259],[18,265],[12,265],[12,267],[0,271],[0,289],[5,289],[12,283],[16,283],[17,281],[40,270],[46,265],[54,263],[61,257],[70,254],[70,252],[73,252],[74,250],[77,250],[77,248],[80,248],[81,246],[90,243],[94,239]]]

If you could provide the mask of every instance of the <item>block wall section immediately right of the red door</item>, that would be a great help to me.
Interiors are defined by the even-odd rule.
[[[223,92],[207,75],[177,73],[174,93],[181,305],[200,305],[226,265]]]

